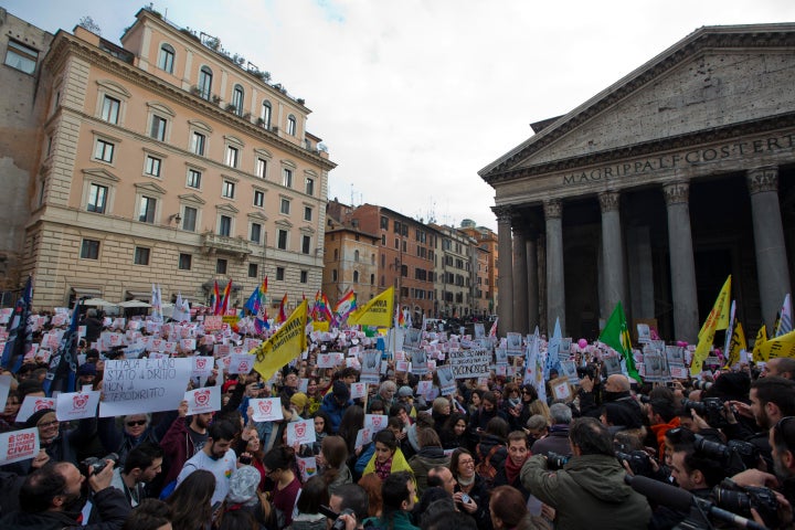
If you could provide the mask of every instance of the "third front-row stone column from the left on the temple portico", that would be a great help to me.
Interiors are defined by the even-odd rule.
[[[604,298],[602,318],[606,321],[615,305],[621,301],[627,308],[624,296],[624,241],[621,225],[621,195],[616,191],[598,194],[602,209],[602,277]]]

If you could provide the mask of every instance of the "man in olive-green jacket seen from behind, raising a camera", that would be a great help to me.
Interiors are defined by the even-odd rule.
[[[647,528],[651,509],[624,483],[607,427],[581,417],[572,422],[569,437],[573,456],[563,469],[550,473],[547,458],[536,455],[521,470],[524,488],[556,510],[555,528]]]

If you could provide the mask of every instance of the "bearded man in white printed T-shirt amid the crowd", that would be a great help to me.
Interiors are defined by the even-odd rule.
[[[215,491],[210,499],[211,504],[223,501],[229,492],[230,476],[237,467],[237,456],[234,449],[230,448],[235,433],[234,425],[223,420],[210,425],[204,447],[186,462],[177,477],[177,486],[197,469],[205,469],[215,475]]]

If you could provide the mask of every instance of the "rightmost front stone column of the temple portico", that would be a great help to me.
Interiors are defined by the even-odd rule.
[[[748,172],[753,215],[756,277],[762,301],[762,321],[767,333],[784,296],[791,292],[784,229],[778,204],[778,168],[765,167]]]

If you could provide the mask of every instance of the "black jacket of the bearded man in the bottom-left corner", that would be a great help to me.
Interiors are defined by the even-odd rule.
[[[26,513],[14,511],[0,519],[3,530],[61,530],[63,528],[83,528],[85,530],[118,530],[127,520],[130,506],[125,495],[116,488],[107,487],[94,497],[94,510],[102,522],[82,526],[73,513],[64,511],[42,511]]]

